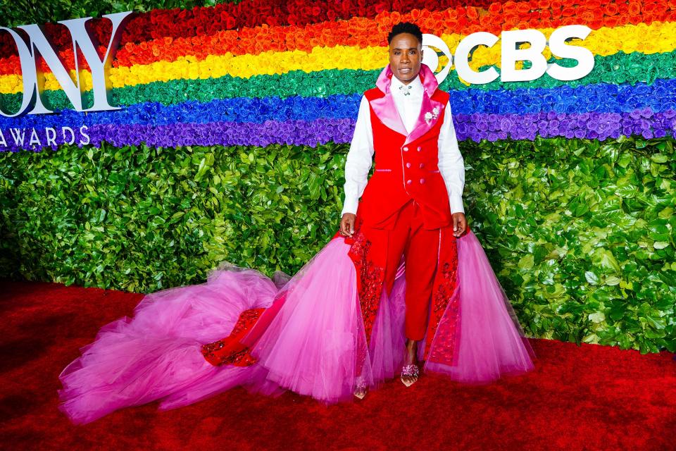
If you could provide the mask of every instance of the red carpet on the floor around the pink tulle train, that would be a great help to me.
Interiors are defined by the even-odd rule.
[[[0,283],[4,450],[676,450],[673,354],[532,340],[537,369],[470,387],[423,376],[325,407],[235,389],[183,409],[156,404],[73,426],[58,373],[141,295]]]

